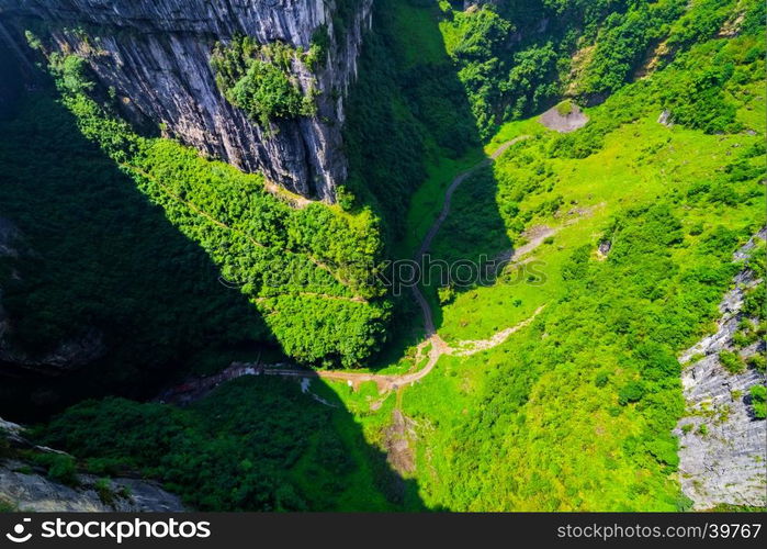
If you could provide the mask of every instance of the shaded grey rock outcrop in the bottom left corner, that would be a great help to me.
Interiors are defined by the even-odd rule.
[[[10,444],[3,457],[2,442]],[[0,503],[30,512],[182,512],[181,500],[155,482],[138,479],[100,481],[92,474],[78,474],[68,486],[46,478],[44,470],[22,460],[13,449],[63,453],[34,446],[24,438],[20,425],[0,418]]]

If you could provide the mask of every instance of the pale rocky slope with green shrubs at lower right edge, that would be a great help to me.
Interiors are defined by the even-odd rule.
[[[719,305],[717,330],[679,357],[687,412],[679,437],[679,479],[695,508],[767,507],[765,466],[765,237],[741,247],[744,261]]]

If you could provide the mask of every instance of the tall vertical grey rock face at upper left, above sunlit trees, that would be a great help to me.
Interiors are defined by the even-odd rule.
[[[347,175],[343,97],[372,1],[0,0],[0,25],[15,36],[26,25],[45,29],[57,49],[86,57],[137,121],[300,194],[334,201]],[[304,91],[313,83],[319,91],[315,116],[278,121],[269,131],[217,89],[210,65],[217,41],[247,35],[307,49],[323,27],[326,59],[314,74],[300,61],[293,67]]]

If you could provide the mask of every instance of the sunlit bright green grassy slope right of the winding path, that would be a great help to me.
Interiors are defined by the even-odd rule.
[[[443,357],[380,412],[374,397],[339,388],[371,439],[395,405],[414,419],[414,477],[428,505],[686,508],[670,435],[684,410],[675,356],[717,317],[732,253],[764,217],[763,59],[753,33],[700,40],[587,109],[590,123],[573,134],[535,119],[500,128],[488,149],[531,137],[494,177],[459,189],[435,250],[492,255],[554,228],[531,253],[545,282],[522,270],[459,291],[440,334],[484,339],[545,309],[498,347]],[[664,109],[675,125],[657,122]]]

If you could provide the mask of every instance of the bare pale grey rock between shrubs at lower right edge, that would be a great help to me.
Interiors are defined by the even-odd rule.
[[[766,235],[763,229],[756,238]],[[753,247],[754,239],[735,259],[748,257]],[[765,374],[753,369],[732,374],[719,359],[720,351],[735,348],[745,292],[760,281],[746,269],[734,282],[720,304],[717,332],[679,358],[688,365],[681,374],[688,413],[674,433],[680,444],[681,489],[696,509],[722,503],[767,506],[767,422],[754,416],[749,397],[752,386],[765,383]],[[764,341],[757,341],[742,355],[764,351]]]

